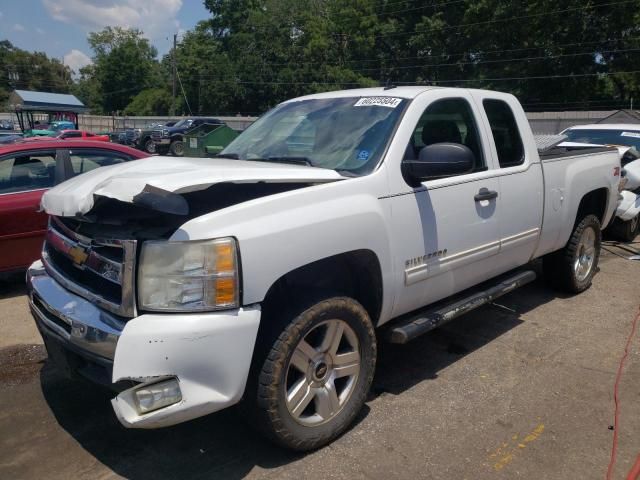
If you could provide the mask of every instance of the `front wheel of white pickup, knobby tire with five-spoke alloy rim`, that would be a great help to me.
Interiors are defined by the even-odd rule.
[[[321,300],[291,319],[256,376],[261,429],[282,446],[312,450],[338,437],[366,399],[376,363],[376,340],[366,310],[355,300]]]

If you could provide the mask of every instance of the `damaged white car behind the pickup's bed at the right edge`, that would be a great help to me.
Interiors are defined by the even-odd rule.
[[[640,158],[640,125],[624,123],[577,125],[567,128],[562,134],[567,137],[567,141],[562,145],[569,147],[586,144],[616,147],[620,154],[623,173],[628,164],[637,162]],[[623,183],[623,185],[626,186],[620,192],[616,216],[607,226],[607,233],[623,242],[630,242],[640,231],[640,214],[629,213],[639,208],[640,188],[632,182]]]

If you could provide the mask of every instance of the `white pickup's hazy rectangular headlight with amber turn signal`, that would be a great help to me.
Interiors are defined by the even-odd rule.
[[[145,242],[138,271],[140,309],[202,312],[238,307],[237,252],[233,238]]]

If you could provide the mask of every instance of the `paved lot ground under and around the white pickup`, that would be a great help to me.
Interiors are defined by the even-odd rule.
[[[22,279],[0,283],[0,478],[602,479],[640,303],[640,262],[607,249],[582,295],[535,282],[407,346],[385,345],[356,425],[308,455],[267,443],[234,409],[162,430],[121,427],[108,392],[47,362]],[[620,399],[622,479],[640,454],[640,332]]]

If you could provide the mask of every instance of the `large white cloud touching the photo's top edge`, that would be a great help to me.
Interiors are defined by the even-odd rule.
[[[106,26],[139,28],[149,39],[171,36],[179,26],[176,15],[183,0],[42,0],[49,14],[60,22],[87,31]]]

